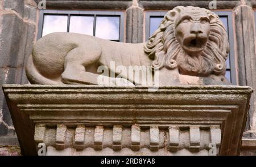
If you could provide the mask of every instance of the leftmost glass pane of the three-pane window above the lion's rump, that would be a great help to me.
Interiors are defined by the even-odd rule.
[[[45,36],[52,32],[67,32],[68,16],[44,15],[43,33]]]

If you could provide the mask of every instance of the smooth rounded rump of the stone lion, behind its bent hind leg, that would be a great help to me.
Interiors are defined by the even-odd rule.
[[[51,33],[40,38],[32,50],[37,70],[47,78],[60,76],[64,71],[65,56],[79,45],[77,39],[77,34],[73,33]]]

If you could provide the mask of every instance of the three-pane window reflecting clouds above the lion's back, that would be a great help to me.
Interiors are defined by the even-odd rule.
[[[41,10],[38,38],[52,32],[74,32],[123,41],[123,12]]]

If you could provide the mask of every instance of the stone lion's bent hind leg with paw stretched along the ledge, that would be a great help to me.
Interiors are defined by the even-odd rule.
[[[101,48],[75,48],[65,57],[64,72],[61,81],[65,84],[94,84],[132,86],[133,83],[124,78],[110,78],[86,71],[85,67],[96,63],[101,56]]]

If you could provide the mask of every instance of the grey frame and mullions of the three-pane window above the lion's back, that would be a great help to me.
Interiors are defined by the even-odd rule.
[[[124,33],[125,33],[125,20],[124,20],[124,12],[123,11],[84,11],[84,10],[40,10],[39,11],[39,22],[38,22],[38,36],[42,38],[43,33],[43,23],[44,23],[44,15],[67,15],[68,16],[68,23],[67,23],[67,32],[69,32],[69,24],[70,18],[72,16],[94,16],[94,23],[93,23],[93,36],[95,36],[95,29],[96,29],[96,17],[97,16],[119,16],[120,18],[120,25],[119,25],[119,42],[124,42]],[[115,40],[113,40],[115,41]]]

